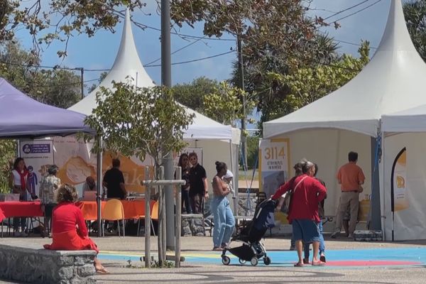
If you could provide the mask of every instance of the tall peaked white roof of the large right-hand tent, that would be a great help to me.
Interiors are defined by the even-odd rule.
[[[347,129],[377,136],[383,114],[426,104],[426,65],[410,39],[402,4],[392,0],[371,61],[343,87],[291,114],[263,124],[265,138],[300,129]]]

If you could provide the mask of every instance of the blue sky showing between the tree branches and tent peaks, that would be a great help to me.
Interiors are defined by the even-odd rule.
[[[312,16],[322,16],[325,18],[333,13],[342,11],[350,6],[361,3],[364,0],[313,0],[310,7],[316,9],[311,11]],[[329,18],[327,21],[335,21],[338,18],[348,16],[351,13],[364,9],[375,3],[378,0],[369,0],[360,6],[339,13],[338,15]],[[322,31],[329,33],[336,40],[342,40],[348,43],[339,44],[340,53],[351,53],[358,56],[356,50],[362,40],[369,40],[372,47],[376,47],[381,40],[381,35],[386,25],[389,6],[391,0],[381,0],[373,6],[360,11],[353,16],[344,18],[339,23],[341,28],[335,30],[332,27],[322,28]],[[324,11],[325,10],[325,11]],[[148,0],[148,7],[145,13],[141,11],[132,14],[135,21],[144,23],[148,26],[160,28],[160,16],[156,11],[156,5],[153,0]],[[121,40],[121,29],[123,24],[120,23],[116,27],[116,33],[109,31],[100,31],[93,38],[87,38],[86,35],[80,35],[70,40],[67,48],[68,56],[65,60],[58,58],[56,52],[63,48],[61,43],[55,43],[43,52],[43,65],[65,65],[68,67],[84,67],[89,69],[109,69],[114,63],[116,53],[119,49]],[[143,64],[153,62],[160,58],[160,31],[147,28],[142,30],[136,26],[132,26],[133,35],[136,46],[138,48],[139,57]],[[195,28],[183,27],[178,30],[178,33],[203,36],[202,24],[198,24]],[[31,47],[31,41],[25,31],[22,34],[18,33],[18,38],[26,48]],[[230,35],[224,35],[223,38],[231,38]],[[172,51],[178,50],[183,46],[194,41],[193,39],[185,40],[178,35],[172,35]],[[354,43],[355,45],[349,44]],[[198,40],[190,47],[185,48],[178,53],[172,55],[172,62],[182,62],[187,60],[195,60],[205,58],[219,53],[226,53],[235,48],[233,40]],[[373,55],[372,50],[371,55]],[[232,61],[235,60],[236,54],[229,53],[228,55],[219,56],[208,60],[191,62],[182,65],[173,65],[172,78],[173,84],[182,82],[191,82],[196,77],[205,76],[216,80],[225,80],[231,72]],[[160,60],[153,64],[159,64]],[[146,67],[148,75],[159,83],[160,67]],[[99,77],[100,72],[84,72],[84,81],[94,80]],[[87,83],[92,84],[92,83]]]

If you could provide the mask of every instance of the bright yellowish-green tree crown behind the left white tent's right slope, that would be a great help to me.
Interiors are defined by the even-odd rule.
[[[202,112],[221,124],[234,125],[236,119],[244,118],[243,104],[240,98],[246,95],[241,89],[231,87],[227,82],[221,82],[219,87],[214,87],[214,92],[204,96],[204,110]],[[250,100],[247,100],[247,102],[249,103],[246,104],[246,109],[250,112],[254,105]]]

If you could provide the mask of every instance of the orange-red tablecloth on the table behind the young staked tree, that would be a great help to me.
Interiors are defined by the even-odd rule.
[[[102,201],[102,209],[106,201]],[[126,219],[139,219],[145,217],[145,200],[121,200],[124,207],[124,217]],[[151,210],[155,201],[151,200]],[[96,201],[79,201],[76,203],[83,212],[84,220],[97,220],[97,203]]]

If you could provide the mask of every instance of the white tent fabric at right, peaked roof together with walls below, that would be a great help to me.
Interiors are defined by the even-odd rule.
[[[419,143],[415,143],[415,137],[426,139],[425,136],[403,133],[385,137],[382,139],[383,156],[378,169],[373,161],[374,137],[379,133],[426,129],[420,122],[420,118],[426,117],[422,116],[426,114],[422,113],[425,108],[420,107],[426,105],[425,77],[426,65],[410,40],[401,0],[392,0],[381,43],[359,75],[326,97],[292,114],[266,122],[263,124],[263,136],[289,138],[292,163],[306,157],[320,165],[320,177],[326,182],[329,192],[326,215],[334,215],[339,204],[340,190],[335,178],[339,165],[347,161],[349,151],[358,152],[359,165],[367,178],[362,195],[372,192],[369,185],[374,184],[377,178],[369,178],[373,171],[378,172],[381,228],[386,240],[391,239],[391,231],[398,240],[423,239],[426,212],[419,211],[422,209],[418,200],[424,204],[424,190],[421,189],[425,187],[426,173],[423,172],[426,170],[413,169],[422,168],[421,163],[426,158],[421,158],[420,153],[424,151],[417,145]],[[407,148],[408,185],[413,186],[407,197],[412,206],[395,214],[393,219],[391,168],[395,155],[404,147]],[[376,194],[377,187],[374,189]],[[376,201],[372,204],[378,207]],[[398,230],[394,230],[394,226]]]

